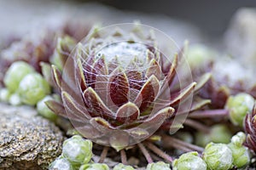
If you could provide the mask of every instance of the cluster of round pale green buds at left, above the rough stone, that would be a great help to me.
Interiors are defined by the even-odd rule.
[[[44,77],[24,61],[13,63],[6,72],[3,82],[6,88],[1,90],[0,99],[11,105],[36,105],[51,92]]]

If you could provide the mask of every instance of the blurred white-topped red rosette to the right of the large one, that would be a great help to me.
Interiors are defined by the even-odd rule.
[[[256,97],[256,82],[253,81],[253,70],[246,68],[234,59],[209,60],[204,71],[212,72],[212,78],[201,88],[202,98],[212,100],[212,108],[222,109],[230,97],[239,93]]]

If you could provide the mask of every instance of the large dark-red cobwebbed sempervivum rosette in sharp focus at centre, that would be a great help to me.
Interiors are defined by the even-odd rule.
[[[160,53],[152,34],[144,34],[137,26],[129,31],[115,29],[112,33],[93,29],[70,54],[62,76],[53,65],[62,104],[50,100],[46,104],[56,114],[67,116],[85,138],[121,150],[122,161],[123,149],[137,144],[152,162],[140,142],[163,122],[172,125],[172,116],[179,115],[178,105],[188,104],[184,101],[189,100],[196,83],[177,83],[182,52],[170,61]],[[199,87],[206,80],[204,77]],[[148,147],[160,153],[154,145]],[[172,161],[163,152],[159,155]]]

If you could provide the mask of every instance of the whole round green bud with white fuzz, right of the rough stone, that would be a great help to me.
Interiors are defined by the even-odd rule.
[[[64,141],[62,155],[75,164],[86,164],[92,157],[92,142],[75,135]]]

